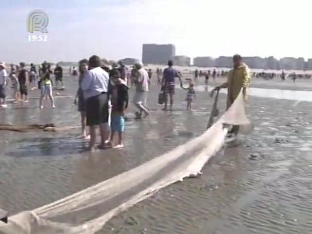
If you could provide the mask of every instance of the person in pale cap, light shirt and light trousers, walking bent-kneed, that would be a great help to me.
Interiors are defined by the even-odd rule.
[[[148,109],[146,108],[147,93],[149,91],[149,77],[147,71],[143,68],[142,62],[136,62],[135,68],[137,69],[136,77],[134,79],[134,83],[136,85],[136,93],[134,94],[133,102],[139,109],[139,112],[136,113],[136,118],[141,118],[142,112],[145,113],[145,116],[149,115]]]

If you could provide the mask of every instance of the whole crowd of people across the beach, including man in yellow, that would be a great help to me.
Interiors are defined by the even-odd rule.
[[[160,85],[158,103],[163,104],[163,110],[172,110],[174,104],[174,95],[176,88],[176,78],[179,79],[180,87],[187,91],[186,102],[187,110],[192,109],[192,103],[196,97],[195,81],[201,76],[205,76],[205,83],[208,84],[210,76],[228,77],[228,81],[215,90],[228,88],[227,108],[232,105],[240,89],[243,87],[244,98],[247,97],[246,89],[249,87],[251,74],[248,66],[242,62],[239,55],[234,56],[234,69],[230,71],[218,72],[213,70],[203,73],[197,69],[194,72],[195,79],[189,80],[188,87],[183,87],[181,73],[173,67],[173,61],[168,61],[168,67],[165,69],[157,68],[157,83]],[[8,80],[11,80],[14,89],[15,101],[28,101],[28,87],[31,91],[39,88],[39,108],[43,108],[44,98],[49,98],[52,108],[55,108],[53,97],[54,85],[52,75],[55,76],[55,83],[60,89],[64,89],[63,69],[59,64],[54,71],[48,62],[44,61],[39,66],[39,71],[34,64],[30,64],[30,70],[25,69],[25,63],[11,65],[9,76],[6,73],[6,66],[0,63],[0,100],[1,106],[6,107],[6,88]],[[233,72],[236,71],[236,72]],[[78,105],[78,111],[81,116],[82,137],[89,139],[87,150],[95,150],[97,126],[100,132],[101,141],[99,149],[121,148],[123,147],[123,132],[125,128],[125,111],[129,104],[128,90],[135,86],[133,94],[133,103],[137,107],[135,113],[136,119],[149,116],[147,99],[149,86],[153,77],[152,69],[145,69],[141,61],[135,62],[132,69],[129,69],[122,63],[114,63],[112,66],[103,63],[96,55],[89,59],[82,59],[78,63],[78,69],[72,67],[70,72],[78,78],[78,90],[74,103]],[[219,75],[218,75],[219,74]],[[246,75],[247,74],[247,75]],[[229,81],[231,78],[231,82]],[[229,84],[229,82],[231,84]],[[247,100],[247,98],[246,98]],[[110,123],[110,124],[109,124]],[[86,127],[89,127],[87,131]],[[87,133],[88,132],[88,133]],[[230,133],[236,133],[233,128]],[[117,144],[114,142],[115,134],[118,135]]]

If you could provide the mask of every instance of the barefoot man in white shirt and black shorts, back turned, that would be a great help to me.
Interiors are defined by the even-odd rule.
[[[86,101],[86,125],[89,126],[90,142],[88,151],[94,151],[96,144],[96,126],[99,125],[101,144],[99,149],[106,149],[108,124],[108,84],[109,75],[101,67],[101,59],[93,55],[89,59],[89,71],[81,81],[81,89]]]

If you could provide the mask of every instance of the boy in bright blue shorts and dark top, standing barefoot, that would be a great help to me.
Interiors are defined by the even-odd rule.
[[[122,148],[122,133],[125,128],[124,112],[128,107],[128,89],[127,83],[121,78],[121,74],[117,69],[113,69],[110,74],[113,87],[109,92],[112,102],[111,113],[111,138],[110,143],[113,148]],[[118,144],[114,146],[115,132],[118,133]]]

